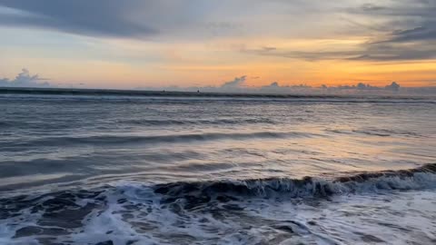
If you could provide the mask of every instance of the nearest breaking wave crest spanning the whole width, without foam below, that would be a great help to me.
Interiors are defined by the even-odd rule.
[[[74,204],[81,199],[104,201],[110,193],[126,191],[153,192],[162,203],[185,200],[190,204],[209,201],[237,201],[247,198],[327,198],[333,195],[378,193],[382,191],[409,191],[436,189],[436,163],[401,171],[362,172],[331,180],[316,177],[302,179],[267,178],[223,181],[177,181],[144,185],[138,182],[104,183],[99,187],[68,189],[43,194],[16,195],[8,193],[0,199],[0,219],[11,211],[35,207],[42,202],[62,205]],[[57,200],[57,201],[56,201]],[[72,204],[72,205],[73,205]],[[75,204],[74,204],[75,205]],[[13,208],[11,208],[13,207]],[[12,210],[11,210],[12,209]]]

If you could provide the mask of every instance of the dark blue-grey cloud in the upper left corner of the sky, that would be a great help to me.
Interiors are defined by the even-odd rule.
[[[10,10],[0,25],[35,26],[71,34],[139,37],[157,32],[128,18],[143,1],[118,0],[0,0]],[[145,13],[146,14],[146,13]]]

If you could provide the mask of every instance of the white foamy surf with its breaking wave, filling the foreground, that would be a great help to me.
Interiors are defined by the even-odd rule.
[[[431,244],[436,238],[436,174],[430,172],[344,182],[231,183],[198,188],[116,181],[87,191],[8,198],[1,201],[0,242]],[[313,188],[318,184],[334,192],[313,192],[320,191]]]

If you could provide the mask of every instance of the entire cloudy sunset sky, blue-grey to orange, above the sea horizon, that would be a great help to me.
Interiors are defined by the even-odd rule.
[[[436,0],[0,0],[0,85],[436,86],[434,13]]]

